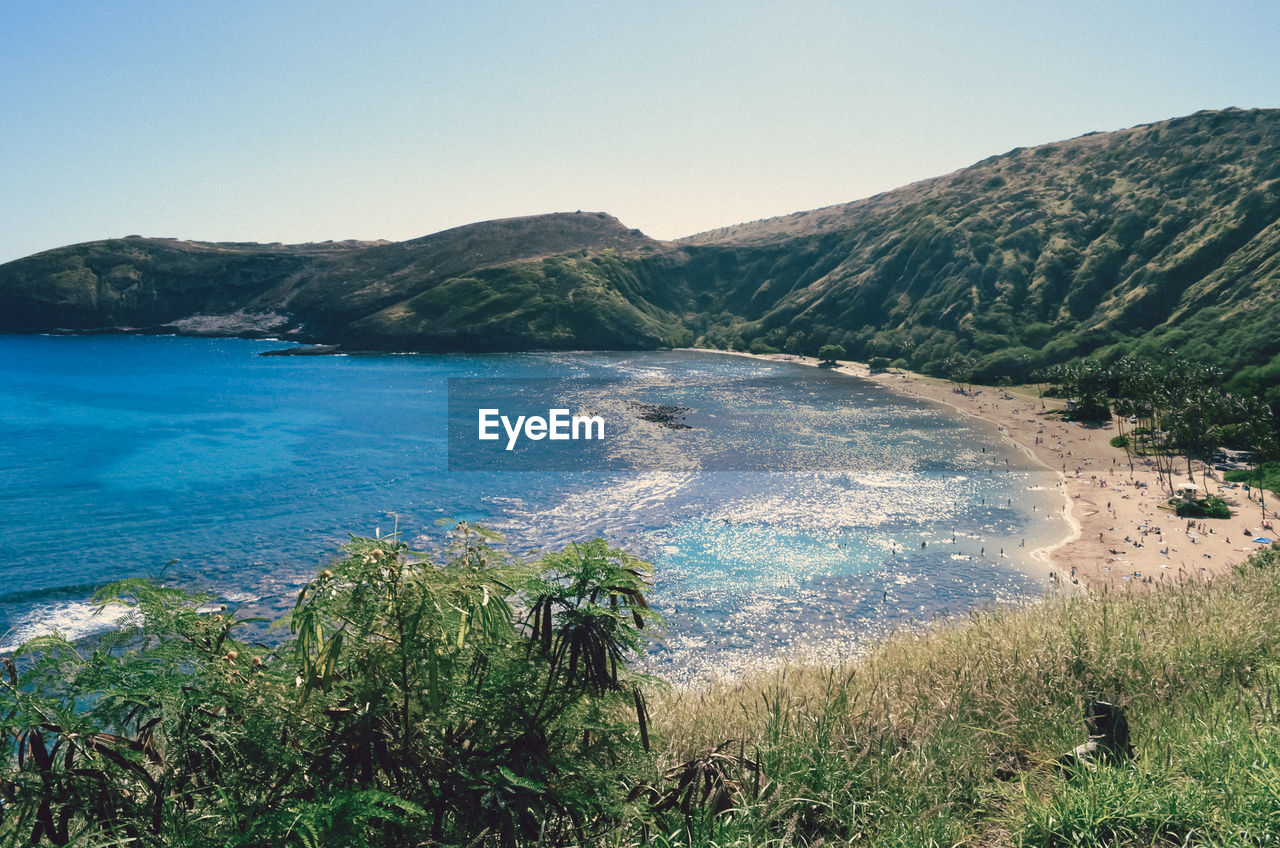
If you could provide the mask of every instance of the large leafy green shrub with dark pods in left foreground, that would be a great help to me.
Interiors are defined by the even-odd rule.
[[[0,842],[581,844],[648,762],[649,566],[595,539],[522,562],[353,539],[275,647],[150,580],[95,649],[28,642],[0,685]]]

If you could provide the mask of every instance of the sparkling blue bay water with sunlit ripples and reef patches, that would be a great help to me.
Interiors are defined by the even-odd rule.
[[[517,552],[600,534],[650,559],[658,669],[733,671],[1037,597],[1029,552],[1064,532],[1050,477],[996,433],[838,374],[687,351],[257,356],[279,346],[0,336],[0,647],[109,626],[93,587],[164,569],[279,612],[347,533],[430,550],[452,518]],[[618,409],[664,386],[691,427],[631,421],[650,439],[632,450],[719,459],[451,473],[449,378]]]

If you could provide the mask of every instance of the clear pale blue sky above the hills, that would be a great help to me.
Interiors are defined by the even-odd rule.
[[[0,261],[142,233],[658,238],[1280,106],[1280,4],[0,0]]]

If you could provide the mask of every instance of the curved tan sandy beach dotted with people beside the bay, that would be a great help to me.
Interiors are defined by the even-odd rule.
[[[753,356],[744,354],[745,356]],[[813,357],[759,355],[758,359],[818,365]],[[1256,537],[1276,538],[1263,526],[1262,510],[1243,488],[1228,488],[1221,474],[1208,470],[1208,493],[1231,506],[1230,519],[1180,519],[1161,509],[1169,492],[1155,469],[1135,457],[1133,470],[1123,448],[1111,446],[1116,425],[1084,427],[1064,421],[1062,402],[1034,393],[975,386],[961,393],[952,383],[902,371],[872,374],[859,363],[835,369],[873,380],[891,391],[945,404],[993,424],[1005,438],[1059,477],[1065,515],[1073,528],[1057,544],[1036,556],[1050,567],[1051,579],[1091,589],[1156,587],[1171,580],[1221,574],[1265,544]],[[1175,480],[1185,480],[1185,462]],[[1203,468],[1194,464],[1196,483]],[[1275,526],[1274,503],[1266,520]]]

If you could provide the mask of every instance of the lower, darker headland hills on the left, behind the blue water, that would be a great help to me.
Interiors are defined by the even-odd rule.
[[[634,269],[658,249],[603,213],[396,243],[129,237],[0,265],[0,330],[271,334],[364,350],[649,348],[689,341],[667,298],[646,300],[654,281]]]

